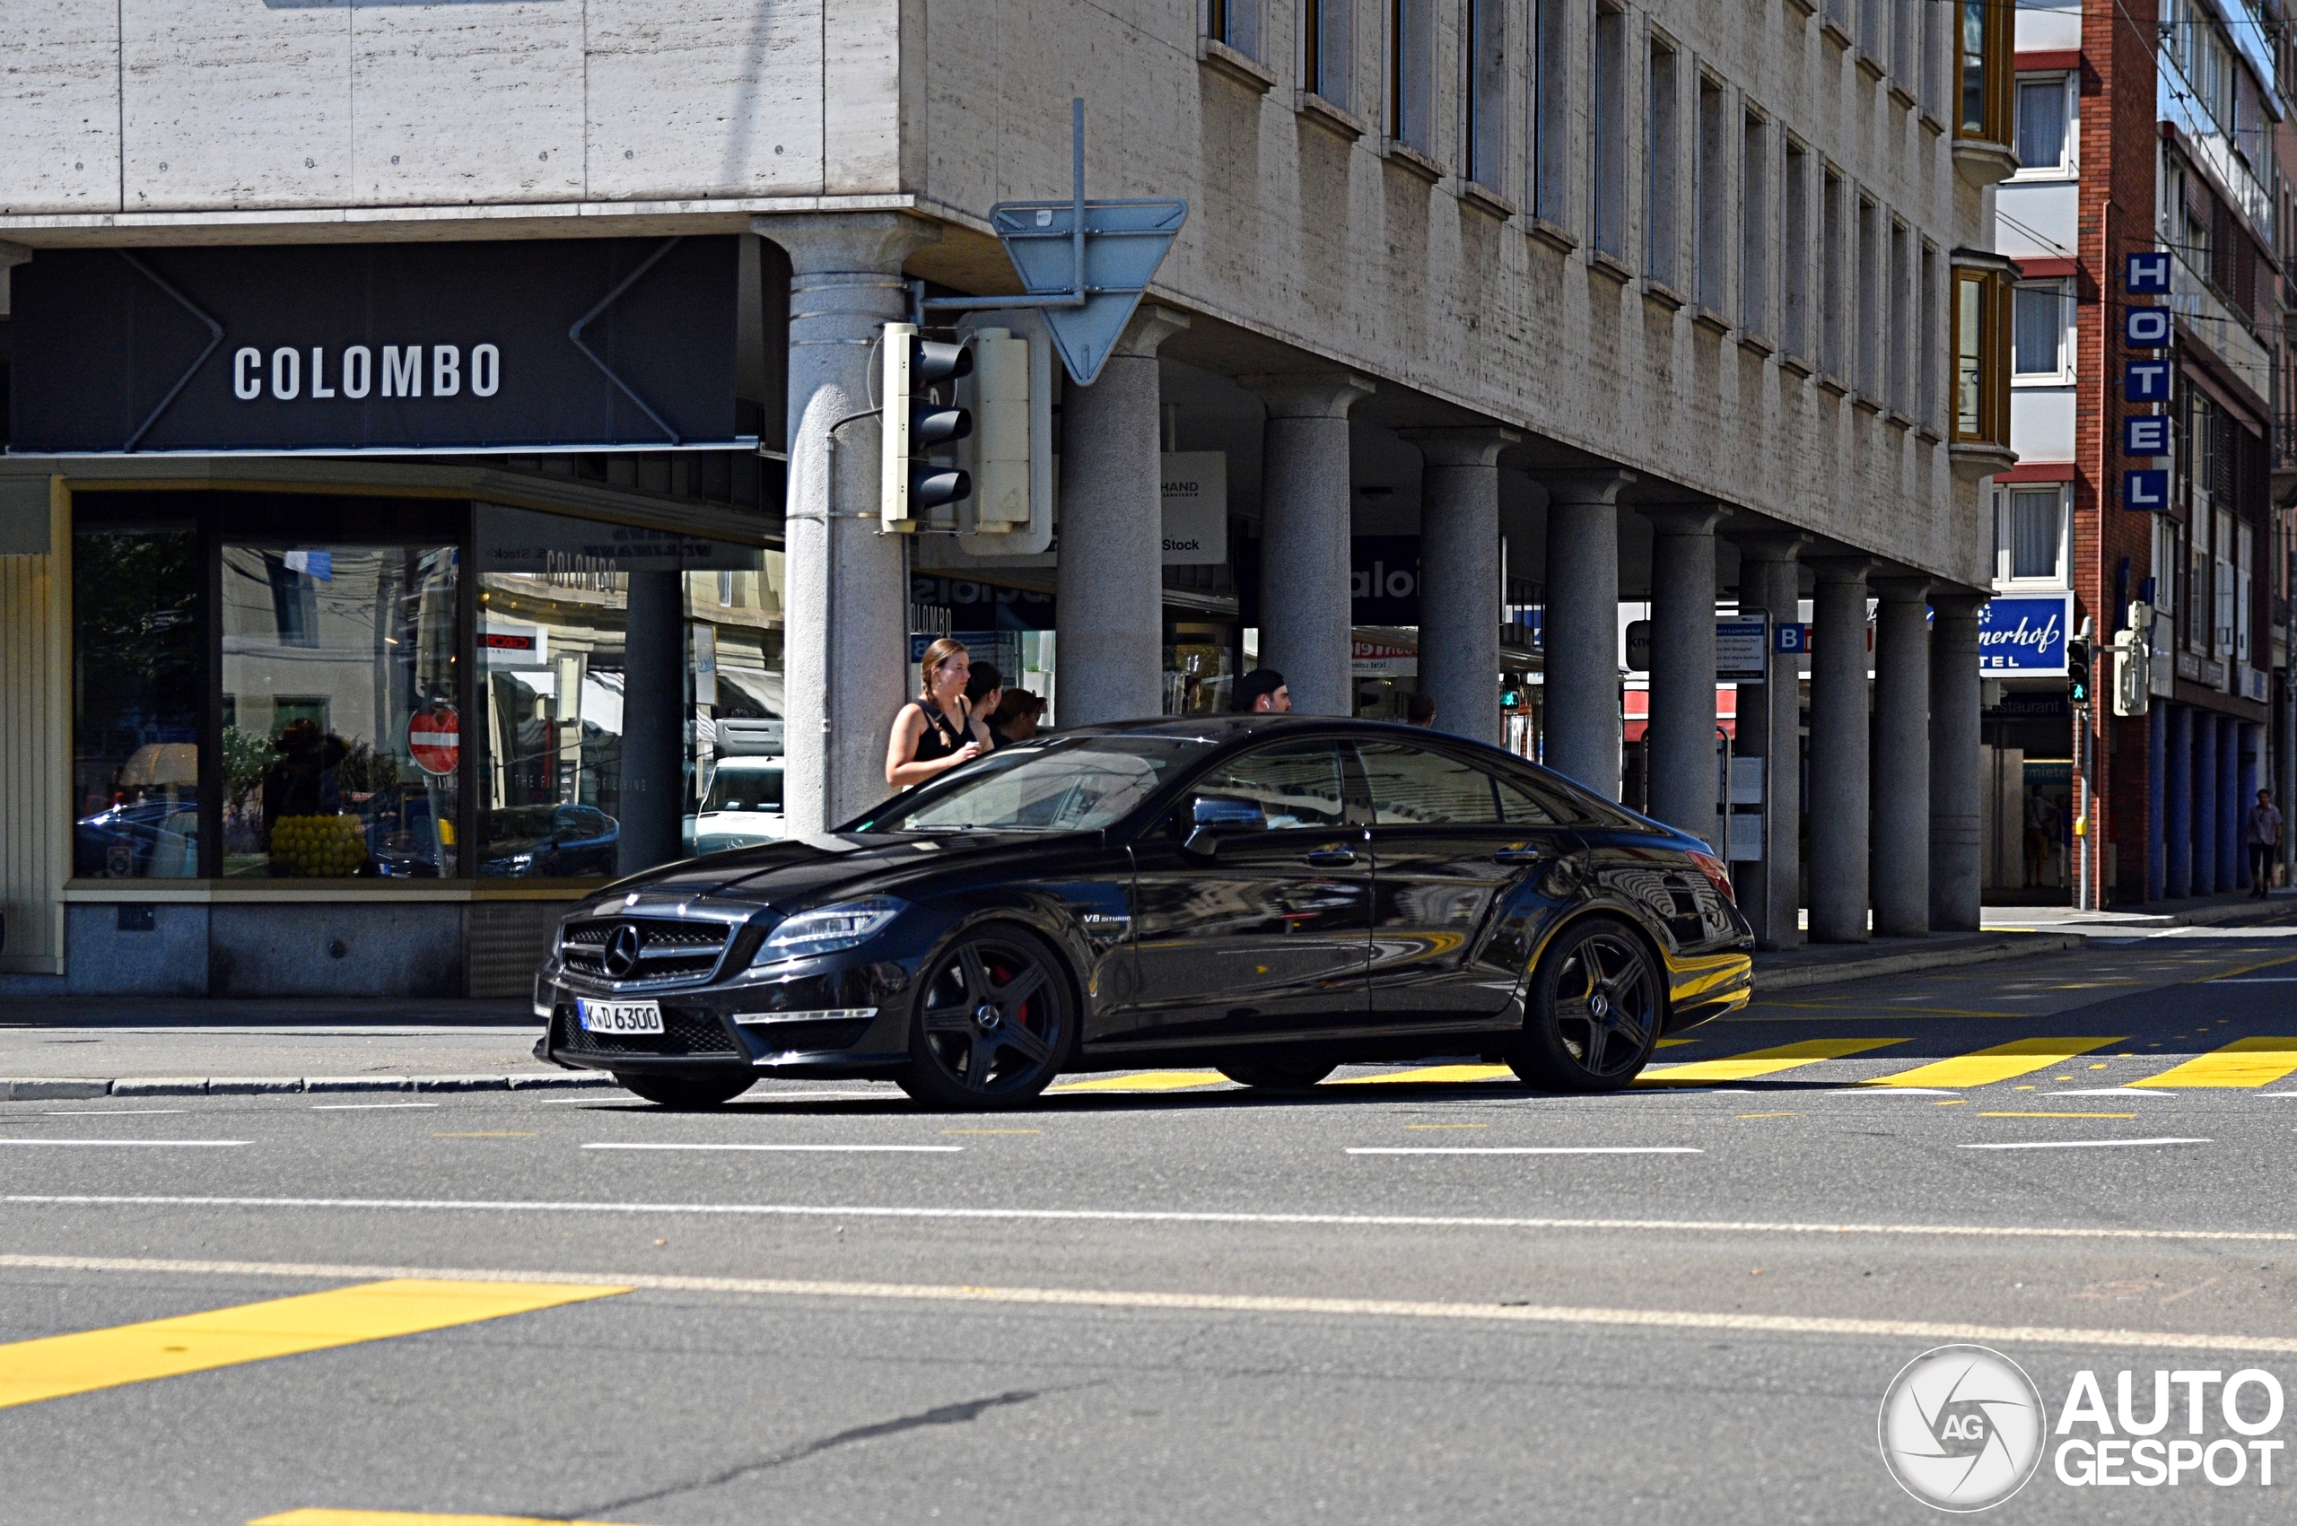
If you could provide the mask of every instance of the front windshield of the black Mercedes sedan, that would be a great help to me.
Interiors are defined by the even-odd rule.
[[[1206,742],[1162,735],[1052,738],[997,749],[887,802],[857,832],[1098,832],[1148,800]]]

